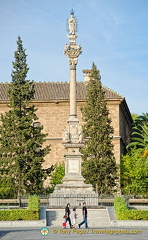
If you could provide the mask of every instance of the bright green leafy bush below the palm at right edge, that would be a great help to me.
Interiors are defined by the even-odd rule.
[[[121,159],[121,190],[123,194],[148,197],[148,160],[144,149],[131,149]]]

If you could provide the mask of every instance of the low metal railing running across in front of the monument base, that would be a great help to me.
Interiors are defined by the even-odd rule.
[[[65,207],[67,203],[70,203],[71,206],[82,207],[83,202],[86,201],[88,207],[107,207],[113,206],[115,196],[108,195],[74,195],[74,194],[63,194],[63,195],[41,195],[40,205],[46,206],[46,208],[52,207]],[[127,205],[145,205],[148,206],[148,198],[130,198],[127,196],[122,196]],[[95,204],[94,204],[95,203]],[[28,206],[28,196],[20,196],[17,199],[0,199],[0,208],[25,208]]]

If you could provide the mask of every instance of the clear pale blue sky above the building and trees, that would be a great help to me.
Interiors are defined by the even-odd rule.
[[[68,82],[66,21],[78,22],[77,81],[92,62],[102,84],[124,96],[131,113],[148,113],[148,0],[0,0],[0,82],[11,82],[21,37],[35,82]]]

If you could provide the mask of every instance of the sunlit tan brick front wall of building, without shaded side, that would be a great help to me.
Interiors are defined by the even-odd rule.
[[[109,109],[110,118],[112,120],[111,125],[114,128],[113,134],[113,145],[114,145],[114,155],[117,163],[120,163],[121,155],[121,144],[120,144],[120,119],[119,119],[119,109],[120,101],[113,100],[107,102],[107,107]],[[83,124],[82,114],[80,107],[85,104],[84,101],[79,101],[77,103],[77,115],[79,119],[79,127]],[[46,161],[44,167],[49,167],[55,162],[64,161],[64,153],[66,150],[62,145],[62,137],[64,129],[68,128],[67,121],[69,119],[69,102],[59,102],[56,103],[35,103],[35,107],[38,108],[37,115],[39,117],[39,122],[44,126],[44,132],[48,133],[46,144],[51,145],[51,151],[46,156]]]

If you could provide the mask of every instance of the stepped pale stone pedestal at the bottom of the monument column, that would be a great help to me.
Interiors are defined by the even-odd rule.
[[[89,206],[97,206],[98,194],[94,192],[91,184],[84,183],[85,179],[81,175],[82,154],[79,152],[79,149],[83,144],[66,143],[64,146],[67,149],[65,154],[65,176],[62,184],[57,184],[54,192],[51,194],[50,206],[63,206],[69,197],[68,202],[72,206],[79,206],[84,201]]]

